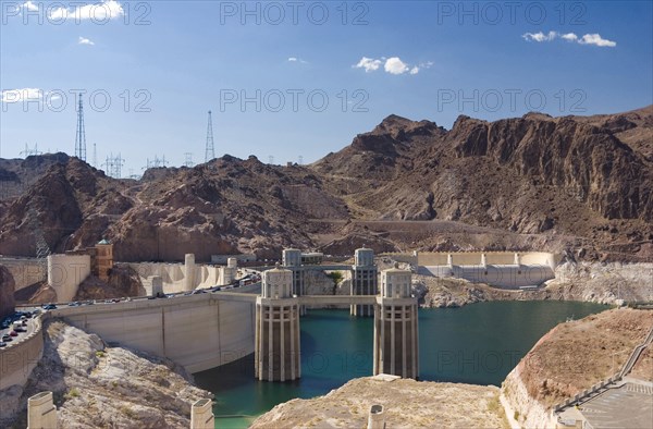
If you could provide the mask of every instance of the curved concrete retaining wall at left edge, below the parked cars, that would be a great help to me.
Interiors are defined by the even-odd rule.
[[[36,367],[44,354],[42,320],[48,315],[34,319],[34,331],[21,342],[10,343],[0,348],[0,390],[14,384],[25,385],[32,370]],[[0,405],[1,407],[1,405]]]

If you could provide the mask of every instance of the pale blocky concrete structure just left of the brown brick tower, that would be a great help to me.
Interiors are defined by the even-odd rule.
[[[58,302],[73,301],[89,274],[89,255],[48,256],[48,284],[57,292]]]

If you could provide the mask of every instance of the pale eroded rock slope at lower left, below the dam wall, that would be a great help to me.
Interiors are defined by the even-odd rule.
[[[61,427],[188,428],[192,403],[212,397],[170,360],[109,347],[62,321],[47,322],[45,329],[44,357],[21,404],[40,391],[53,391]]]

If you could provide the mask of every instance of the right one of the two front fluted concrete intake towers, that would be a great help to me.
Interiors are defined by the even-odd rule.
[[[417,298],[410,296],[410,280],[408,270],[381,271],[381,296],[374,307],[374,376],[419,376]]]

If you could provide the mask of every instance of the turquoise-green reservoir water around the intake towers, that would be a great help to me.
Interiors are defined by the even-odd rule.
[[[608,307],[575,302],[494,302],[419,310],[420,380],[501,385],[551,328]],[[195,375],[215,394],[215,427],[245,428],[294,397],[313,397],[372,373],[372,318],[348,310],[309,310],[301,318],[301,378],[254,378],[254,355]]]

